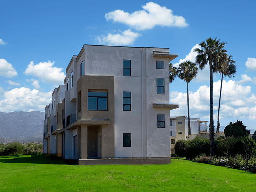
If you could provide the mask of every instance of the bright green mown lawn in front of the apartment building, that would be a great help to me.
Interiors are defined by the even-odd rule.
[[[0,157],[0,191],[256,191],[256,174],[172,159],[163,165],[70,165],[42,155]]]

